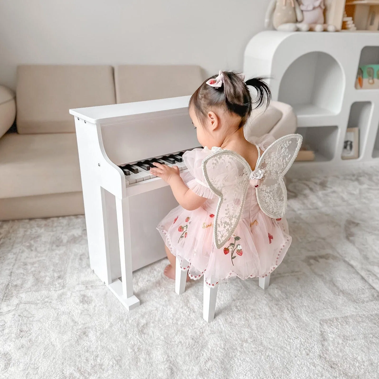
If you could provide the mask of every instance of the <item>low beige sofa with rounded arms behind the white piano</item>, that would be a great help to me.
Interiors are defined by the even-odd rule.
[[[14,94],[0,87],[0,220],[84,213],[70,108],[184,96],[204,75],[198,66],[19,66]],[[246,137],[296,130],[289,105],[255,111]]]

